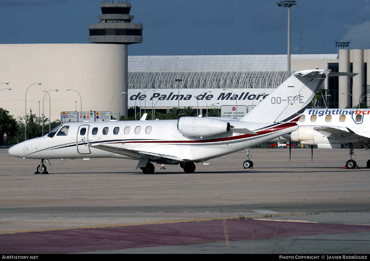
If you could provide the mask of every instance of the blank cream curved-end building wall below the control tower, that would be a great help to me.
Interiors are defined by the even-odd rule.
[[[61,111],[109,111],[115,94],[123,91],[124,49],[121,44],[0,44],[0,84],[11,91],[0,92],[0,107],[11,115],[24,117],[27,88],[27,113],[38,116],[43,97],[50,91],[51,120]],[[78,91],[67,91],[70,88]],[[116,96],[112,111],[123,111],[123,97]],[[75,102],[77,101],[77,103]],[[40,102],[40,103],[39,103]],[[40,104],[40,105],[39,105]],[[40,106],[40,107],[39,107]],[[49,100],[44,98],[44,114],[49,118]]]

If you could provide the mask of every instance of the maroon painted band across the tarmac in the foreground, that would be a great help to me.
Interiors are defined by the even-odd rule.
[[[366,225],[226,220],[230,241],[370,231]],[[256,231],[256,232],[254,232]],[[3,254],[60,254],[225,241],[223,220],[0,235]]]

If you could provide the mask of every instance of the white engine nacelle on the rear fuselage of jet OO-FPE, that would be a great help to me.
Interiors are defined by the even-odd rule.
[[[194,136],[208,137],[230,131],[230,123],[213,118],[181,117],[177,121],[179,133]]]

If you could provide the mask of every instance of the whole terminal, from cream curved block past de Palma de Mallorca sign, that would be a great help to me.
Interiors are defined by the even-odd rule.
[[[48,111],[43,90],[52,90],[51,120],[81,106],[83,111],[120,111],[122,96],[114,96],[122,92],[128,93],[128,107],[255,106],[287,78],[286,55],[128,56],[125,91],[125,53],[123,44],[0,44],[0,83],[9,82],[0,84],[0,90],[12,88],[1,91],[0,107],[24,117],[26,90],[34,83],[41,85],[27,91],[27,113],[31,109],[42,114],[43,103]],[[370,101],[369,55],[369,50],[346,49],[339,54],[293,54],[291,68],[359,73],[324,81],[324,97],[316,104],[351,107]],[[194,98],[199,95],[199,100]]]

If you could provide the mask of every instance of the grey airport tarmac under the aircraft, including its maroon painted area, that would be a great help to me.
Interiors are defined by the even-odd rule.
[[[0,150],[0,252],[369,254],[369,152],[250,149],[196,164],[37,160]],[[285,222],[282,222],[285,221]]]

